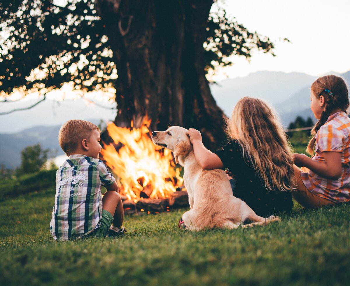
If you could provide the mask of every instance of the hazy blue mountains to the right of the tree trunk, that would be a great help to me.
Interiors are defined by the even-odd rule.
[[[350,83],[350,71],[340,76]],[[287,127],[297,116],[304,119],[310,116],[315,120],[310,110],[310,85],[316,78],[298,72],[259,71],[244,78],[225,79],[213,84],[211,92],[227,116],[231,116],[237,101],[243,96],[267,100]]]

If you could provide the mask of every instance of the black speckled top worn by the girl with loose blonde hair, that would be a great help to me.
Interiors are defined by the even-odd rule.
[[[245,201],[257,215],[268,217],[292,210],[292,193],[267,190],[262,178],[255,172],[252,162],[243,156],[243,149],[236,140],[231,140],[214,153],[219,156],[224,168],[228,168],[236,177],[233,195]]]

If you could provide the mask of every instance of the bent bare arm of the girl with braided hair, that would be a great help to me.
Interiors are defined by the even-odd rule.
[[[312,160],[305,154],[293,154],[294,164],[307,167],[326,179],[337,180],[342,175],[342,154],[340,152],[322,152],[324,162]]]

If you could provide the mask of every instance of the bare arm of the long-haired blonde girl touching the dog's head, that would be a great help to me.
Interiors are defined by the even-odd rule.
[[[219,156],[204,147],[201,132],[190,128],[188,134],[193,145],[196,161],[204,170],[222,169],[224,167]]]

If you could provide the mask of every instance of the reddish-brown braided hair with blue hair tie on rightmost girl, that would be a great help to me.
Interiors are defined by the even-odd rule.
[[[325,109],[321,113],[321,117],[311,130],[313,136],[309,141],[306,151],[314,154],[316,145],[316,133],[323,124],[327,121],[332,111],[340,109],[346,113],[349,107],[349,91],[343,78],[335,75],[319,77],[311,84],[311,92],[318,99],[322,95],[325,100]]]

